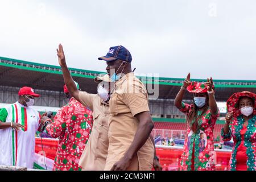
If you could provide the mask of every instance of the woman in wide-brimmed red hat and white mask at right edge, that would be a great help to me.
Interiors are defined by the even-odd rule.
[[[233,138],[234,146],[228,169],[255,171],[256,169],[256,94],[234,93],[227,101],[228,114],[221,130],[224,141]]]

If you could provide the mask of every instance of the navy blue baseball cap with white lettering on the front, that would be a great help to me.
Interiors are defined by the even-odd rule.
[[[133,58],[131,57],[131,53],[128,51],[128,49],[123,46],[110,47],[106,56],[98,57],[98,60],[104,61],[115,61],[117,59],[131,63]]]

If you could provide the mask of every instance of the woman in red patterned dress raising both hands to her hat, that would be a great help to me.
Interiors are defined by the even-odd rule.
[[[212,78],[205,83],[191,82],[189,73],[175,98],[175,106],[187,115],[187,137],[179,163],[182,171],[214,170],[213,129],[219,111],[213,88]],[[191,105],[182,102],[186,89],[194,94]]]

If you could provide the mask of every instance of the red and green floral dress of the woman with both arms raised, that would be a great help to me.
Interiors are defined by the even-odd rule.
[[[180,111],[187,114],[193,105],[182,102]],[[197,113],[200,115],[201,113]],[[216,163],[216,152],[214,152],[213,129],[217,121],[219,111],[211,114],[210,109],[199,119],[200,129],[196,134],[190,126],[187,126],[187,137],[185,138],[183,154],[181,155],[179,169],[182,171],[205,171],[214,170]]]

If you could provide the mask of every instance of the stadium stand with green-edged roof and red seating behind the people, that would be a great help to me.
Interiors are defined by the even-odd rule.
[[[56,62],[57,63],[57,62]],[[75,81],[79,82],[81,89],[88,93],[97,93],[97,84],[93,78],[105,74],[105,72],[88,71],[82,69],[70,68]],[[166,135],[180,135],[185,131],[185,115],[174,106],[174,98],[179,92],[184,78],[165,78],[165,77],[145,77],[137,76],[146,86],[146,88],[156,88],[158,98],[150,96],[149,106],[152,117],[155,121],[155,131],[162,137]],[[201,79],[192,79],[192,81],[206,81]],[[0,107],[5,104],[11,104],[18,99],[18,90],[22,86],[31,86],[41,97],[36,99],[35,105],[39,111],[57,111],[59,107],[65,105],[67,100],[63,93],[63,76],[61,68],[55,65],[32,63],[28,61],[0,57]],[[154,86],[152,86],[154,85]],[[234,92],[244,90],[256,93],[256,80],[214,80],[216,88],[216,100],[225,102]],[[184,96],[186,102],[191,102],[191,94]],[[221,114],[224,117],[225,113]],[[214,129],[214,137],[218,137],[222,127],[217,122]],[[156,134],[155,134],[156,135]]]

